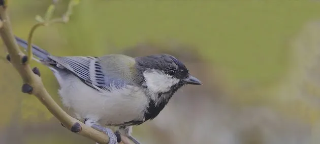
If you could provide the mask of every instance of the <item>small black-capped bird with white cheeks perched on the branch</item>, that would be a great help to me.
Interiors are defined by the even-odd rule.
[[[15,39],[27,50],[27,41]],[[181,87],[202,84],[169,54],[54,56],[37,45],[31,48],[33,59],[56,77],[62,104],[84,124],[107,134],[108,144],[120,142],[120,134],[141,144],[132,136],[133,126],[154,119]]]

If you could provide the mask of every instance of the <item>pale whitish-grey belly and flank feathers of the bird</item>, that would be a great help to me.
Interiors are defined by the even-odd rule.
[[[107,125],[144,119],[148,101],[137,87],[128,86],[100,93],[74,75],[66,77],[60,86],[62,103],[81,118],[94,119]]]

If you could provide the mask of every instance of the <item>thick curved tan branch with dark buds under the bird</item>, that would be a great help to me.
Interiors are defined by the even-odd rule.
[[[34,94],[38,100],[69,130],[74,133],[80,134],[87,138],[90,138],[99,143],[108,143],[109,137],[77,119],[68,115],[63,111],[51,98],[48,91],[45,89],[38,68],[31,69],[27,63],[31,59],[28,59],[19,49],[14,34],[12,32],[10,19],[7,14],[7,1],[0,0],[0,36],[6,44],[8,50],[7,60],[11,62],[14,68],[19,72],[22,80],[22,92]],[[29,38],[29,42],[31,38]],[[31,42],[29,43],[31,44]],[[30,50],[30,49],[29,49]],[[29,58],[31,55],[29,55]]]

